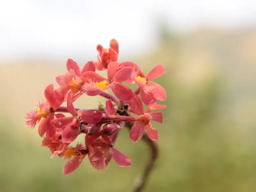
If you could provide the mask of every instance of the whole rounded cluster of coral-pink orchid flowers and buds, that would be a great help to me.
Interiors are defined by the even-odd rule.
[[[150,121],[163,121],[162,112],[151,111],[165,108],[156,101],[166,100],[166,92],[153,82],[165,73],[165,68],[157,64],[144,75],[131,61],[117,62],[119,48],[115,39],[110,41],[108,49],[98,45],[97,51],[98,60],[87,62],[82,70],[75,61],[68,59],[67,73],[56,77],[59,87],[54,89],[53,84],[48,85],[44,90],[46,101],[39,102],[37,108],[25,117],[29,127],[35,128],[38,124],[38,134],[43,137],[42,146],[50,150],[51,157],[67,159],[64,174],[76,170],[86,155],[97,170],[105,170],[111,159],[120,166],[130,166],[129,157],[114,147],[125,122],[135,122],[130,131],[130,138],[135,143],[145,130],[151,140],[157,140],[158,132],[151,127]],[[107,78],[96,70],[107,70]],[[133,92],[123,82],[136,83],[138,87]],[[114,96],[107,89],[111,89]],[[105,105],[100,103],[97,109],[74,108],[73,102],[83,94],[101,95],[108,100]],[[148,106],[146,110],[142,102]],[[70,143],[80,134],[85,135],[84,144],[71,147]]]

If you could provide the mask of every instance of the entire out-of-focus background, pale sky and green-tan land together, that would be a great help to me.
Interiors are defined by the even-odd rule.
[[[112,38],[119,61],[145,73],[166,68],[156,79],[167,92],[164,123],[153,123],[160,155],[144,191],[256,191],[254,0],[1,1],[0,191],[132,191],[149,151],[128,130],[116,148],[132,167],[111,161],[96,171],[85,158],[65,176],[63,159],[50,159],[24,119],[44,88],[57,86],[68,58],[82,67]],[[74,104],[94,108],[99,100],[84,95]]]

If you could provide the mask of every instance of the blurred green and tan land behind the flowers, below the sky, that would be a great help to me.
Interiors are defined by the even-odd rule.
[[[174,34],[162,29],[150,50],[119,59],[136,62],[145,73],[157,63],[166,68],[156,79],[167,92],[167,100],[159,102],[167,105],[164,123],[153,123],[160,154],[144,191],[256,191],[256,30]],[[131,167],[111,161],[107,171],[96,171],[86,157],[65,176],[63,159],[50,159],[37,128],[25,126],[26,112],[44,99],[48,84],[57,86],[55,76],[65,73],[65,62],[17,60],[3,63],[0,71],[1,192],[132,191],[149,151],[142,140],[134,144],[127,129],[116,148],[131,158]],[[83,95],[74,105],[94,108],[98,100],[104,101]]]

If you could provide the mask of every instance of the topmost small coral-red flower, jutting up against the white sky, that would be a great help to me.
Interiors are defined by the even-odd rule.
[[[117,61],[118,58],[118,43],[115,39],[110,41],[110,48],[104,49],[101,45],[97,45],[99,52],[98,61],[93,61],[97,70],[105,70],[108,68],[109,62]]]

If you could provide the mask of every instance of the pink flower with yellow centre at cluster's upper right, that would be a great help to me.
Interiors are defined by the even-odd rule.
[[[165,68],[161,64],[157,64],[148,74],[145,76],[140,67],[130,61],[126,61],[120,64],[119,68],[123,67],[133,67],[134,71],[131,78],[126,81],[127,83],[135,82],[140,86],[140,97],[143,103],[146,105],[154,105],[157,100],[164,101],[166,100],[166,92],[164,88],[151,81],[158,76],[161,76],[165,73]]]

